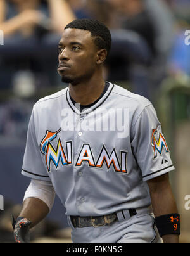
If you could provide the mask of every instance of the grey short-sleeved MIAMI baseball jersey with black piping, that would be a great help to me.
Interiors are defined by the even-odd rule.
[[[174,166],[148,99],[110,83],[80,112],[69,89],[35,105],[22,174],[51,181],[67,215],[106,215],[150,205],[146,181]]]

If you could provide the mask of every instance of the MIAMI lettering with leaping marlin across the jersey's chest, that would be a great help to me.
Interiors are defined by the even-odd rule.
[[[72,161],[72,141],[66,141],[66,154],[63,150],[63,146],[61,143],[61,139],[58,139],[58,143],[56,146],[56,150],[51,143],[56,137],[57,134],[61,131],[59,129],[56,132],[47,131],[46,136],[41,141],[40,151],[45,156],[46,165],[48,172],[51,172],[51,162],[55,165],[56,169],[58,169],[58,165],[61,162],[62,165],[73,164]],[[120,161],[118,159],[117,152],[115,148],[108,153],[105,145],[101,148],[99,153],[98,160],[94,160],[94,156],[92,153],[91,145],[89,143],[84,143],[77,157],[77,161],[75,166],[80,167],[82,163],[87,162],[89,167],[101,168],[103,164],[106,164],[107,170],[110,169],[111,165],[113,166],[115,172],[125,173],[127,174],[127,151],[120,151]]]

